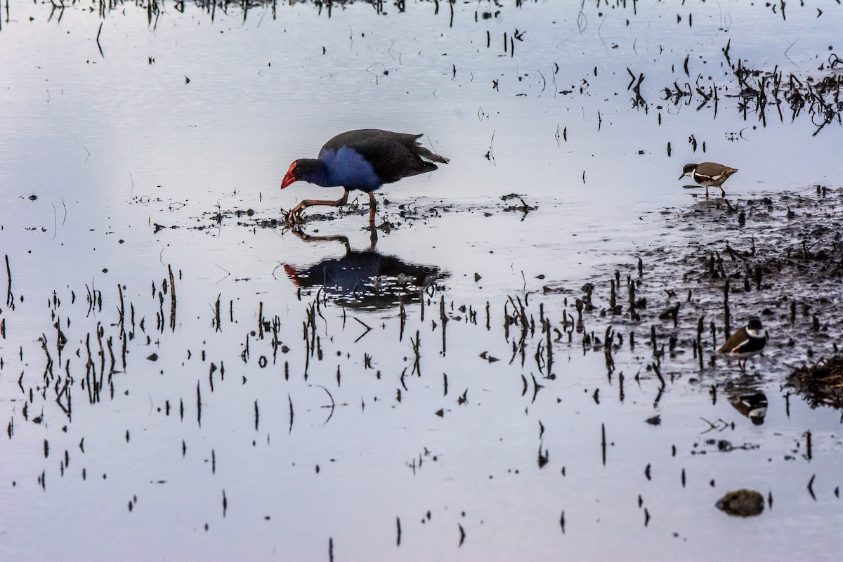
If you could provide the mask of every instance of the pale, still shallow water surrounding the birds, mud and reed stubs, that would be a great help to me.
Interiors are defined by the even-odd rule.
[[[733,292],[733,329],[775,311],[741,376],[709,364],[722,288],[688,271],[727,241],[797,248],[785,190],[829,186],[792,206],[837,217],[839,121],[814,135],[815,115],[768,105],[764,126],[754,102],[744,119],[722,50],[836,76],[843,12],[626,4],[3,9],[0,558],[835,559],[840,412],[782,385],[839,342],[839,279]],[[662,99],[700,73],[717,111]],[[423,131],[451,163],[379,191],[376,240],[353,210],[309,238],[272,226],[336,191],[278,190],[289,163],[372,126]],[[745,227],[676,180],[709,159],[740,169]],[[389,276],[364,292],[349,264]],[[625,313],[601,316],[615,270]],[[658,321],[688,289],[678,327]],[[787,321],[782,294],[824,330]],[[759,391],[760,426],[728,399]],[[760,517],[715,508],[739,488]]]

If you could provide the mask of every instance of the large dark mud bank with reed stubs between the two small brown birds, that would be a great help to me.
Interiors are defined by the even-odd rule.
[[[607,271],[571,294],[591,311],[588,324],[598,324],[598,334],[607,323],[644,328],[656,364],[683,355],[702,371],[722,365],[713,351],[760,317],[771,340],[755,372],[780,380],[791,366],[836,351],[843,318],[840,190],[711,199],[661,214],[685,244],[638,249],[637,263],[631,256],[614,276]]]

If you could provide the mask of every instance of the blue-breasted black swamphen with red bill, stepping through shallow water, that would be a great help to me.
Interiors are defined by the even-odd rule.
[[[294,181],[306,181],[322,187],[341,186],[344,191],[336,201],[305,199],[293,207],[287,219],[301,222],[301,212],[309,206],[345,205],[350,190],[361,190],[368,193],[369,222],[374,222],[378,206],[374,190],[407,176],[432,172],[438,169],[433,162],[448,163],[448,158],[422,147],[419,137],[380,129],[347,131],[325,142],[317,158],[299,158],[290,164],[281,189]]]

